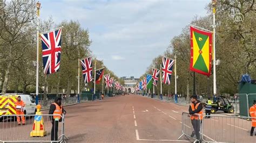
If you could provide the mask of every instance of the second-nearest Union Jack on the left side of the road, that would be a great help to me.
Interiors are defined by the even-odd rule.
[[[82,65],[84,83],[89,83],[92,81],[92,57],[80,60]]]

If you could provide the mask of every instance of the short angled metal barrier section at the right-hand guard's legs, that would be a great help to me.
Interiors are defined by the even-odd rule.
[[[198,117],[197,115],[193,115],[194,117]],[[185,136],[188,140],[193,139],[194,142],[201,140],[201,120],[193,119],[191,120],[191,115],[183,112],[181,116],[181,128],[182,134],[178,139]]]

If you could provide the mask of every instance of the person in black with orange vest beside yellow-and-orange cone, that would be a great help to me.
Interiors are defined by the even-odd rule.
[[[57,106],[57,107],[56,107]],[[51,104],[50,110],[49,110],[49,115],[53,115],[53,113],[57,113],[58,109],[60,109],[60,112],[58,115],[64,115],[66,114],[66,111],[62,107],[62,98],[61,97],[56,97],[55,102]],[[58,126],[59,126],[59,121],[62,121],[62,117],[60,116],[50,116],[50,120],[52,123],[52,128],[51,128],[51,140],[57,141],[58,140]]]

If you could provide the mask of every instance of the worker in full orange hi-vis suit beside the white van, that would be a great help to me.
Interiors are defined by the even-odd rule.
[[[24,115],[23,108],[25,106],[24,102],[21,99],[21,96],[18,96],[15,106],[16,106],[16,115],[17,115],[18,125],[21,125],[21,118],[22,118],[22,125],[25,125],[25,117],[24,116],[19,117],[19,115]]]

